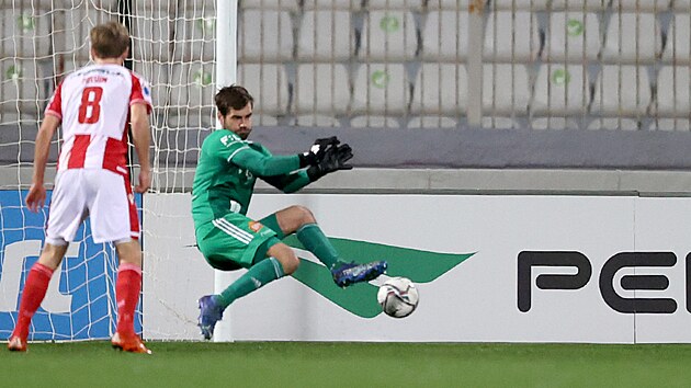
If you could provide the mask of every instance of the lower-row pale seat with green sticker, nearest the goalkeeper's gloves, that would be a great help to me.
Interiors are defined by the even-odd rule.
[[[401,64],[364,64],[358,69],[351,111],[354,114],[403,115],[410,82]]]

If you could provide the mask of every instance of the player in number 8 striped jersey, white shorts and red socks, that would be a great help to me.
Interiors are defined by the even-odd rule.
[[[38,212],[46,201],[44,173],[49,145],[58,126],[63,147],[46,226],[46,241],[26,277],[19,318],[8,347],[26,351],[29,326],[87,215],[95,243],[115,243],[120,266],[115,294],[116,349],[150,353],[134,330],[141,288],[139,220],[126,167],[127,126],[139,158],[137,193],[150,185],[148,114],[151,94],[146,81],[123,67],[129,54],[129,34],[120,23],[97,25],[90,32],[94,65],[70,75],[57,87],[36,135],[34,174],[26,206]]]

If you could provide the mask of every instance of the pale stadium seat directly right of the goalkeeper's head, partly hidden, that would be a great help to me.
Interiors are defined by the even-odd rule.
[[[238,83],[254,98],[258,115],[281,116],[286,113],[288,82],[282,65],[240,65]]]

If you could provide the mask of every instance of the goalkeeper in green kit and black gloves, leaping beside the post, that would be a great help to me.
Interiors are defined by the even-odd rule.
[[[288,235],[296,233],[331,271],[338,286],[383,274],[385,261],[340,261],[306,207],[290,206],[260,220],[246,216],[257,178],[284,193],[296,192],[328,173],[352,169],[347,164],[353,156],[350,146],[331,137],[317,139],[304,153],[273,156],[260,144],[247,140],[252,130],[253,99],[245,88],[223,88],[215,103],[223,128],[204,140],[192,189],[196,242],[214,269],[248,271],[220,294],[200,298],[202,335],[212,338],[216,322],[233,301],[297,270],[299,259],[281,242]]]

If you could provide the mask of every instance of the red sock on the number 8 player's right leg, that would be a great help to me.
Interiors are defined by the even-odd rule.
[[[134,335],[134,313],[141,290],[141,267],[123,263],[117,269],[115,298],[117,299],[117,332]]]

